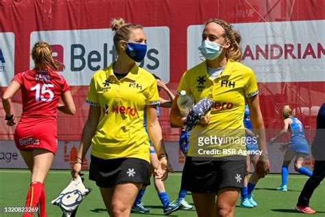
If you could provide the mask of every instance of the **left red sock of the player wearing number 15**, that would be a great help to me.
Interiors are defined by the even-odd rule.
[[[26,197],[25,207],[37,207],[38,201],[40,200],[40,194],[44,190],[43,183],[35,181],[30,184],[29,191]],[[32,212],[25,212],[23,217],[33,216]]]

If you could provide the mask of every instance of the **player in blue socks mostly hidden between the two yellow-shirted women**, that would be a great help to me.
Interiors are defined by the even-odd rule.
[[[156,75],[153,74],[153,76],[156,78],[157,85],[158,85],[158,91],[160,89],[163,89],[168,97],[169,100],[165,100],[163,98],[160,98],[160,106],[163,108],[171,108],[171,103],[173,102],[173,99],[175,98],[175,95],[171,93],[171,91],[168,89],[166,84]],[[159,118],[160,116],[160,106],[157,106],[157,117]],[[146,132],[147,131],[147,113],[144,111],[144,117],[143,117],[143,126],[145,127]],[[149,135],[149,134],[148,134]],[[152,144],[152,140],[149,137],[149,144],[150,144],[150,162],[152,165],[152,170],[155,170],[158,167],[158,155],[156,153],[156,150],[154,149],[154,144]],[[170,170],[169,170],[170,171]],[[156,190],[158,192],[158,196],[160,199],[160,202],[163,204],[163,209],[164,209],[164,214],[168,215],[171,214],[172,212],[176,211],[177,209],[180,209],[182,205],[180,203],[177,203],[176,201],[169,201],[168,194],[165,190],[165,185],[163,183],[162,179],[156,179],[154,176],[154,185],[156,187]],[[143,203],[141,203],[143,194],[145,194],[145,188],[142,187],[141,190],[139,191],[138,195],[136,196],[136,201],[134,202],[134,205],[132,206],[132,212],[134,213],[148,213],[149,209],[145,208],[143,206]]]

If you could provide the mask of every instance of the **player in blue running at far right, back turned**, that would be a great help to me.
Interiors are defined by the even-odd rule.
[[[291,138],[289,144],[282,146],[280,150],[285,150],[285,159],[282,164],[282,184],[276,190],[287,192],[287,182],[289,170],[288,167],[293,157],[295,160],[295,170],[306,176],[313,174],[307,168],[302,166],[304,159],[309,155],[309,147],[306,137],[304,135],[304,126],[297,117],[293,117],[292,110],[289,106],[283,109],[283,118],[285,119],[285,127],[278,135],[271,139],[269,144],[273,144],[277,139],[285,135],[289,131]]]

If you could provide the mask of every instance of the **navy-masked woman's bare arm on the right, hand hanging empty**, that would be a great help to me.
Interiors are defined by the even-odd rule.
[[[160,124],[158,122],[156,105],[147,105],[145,106],[145,109],[147,110],[147,130],[158,155],[158,168],[159,170],[162,170],[162,174],[158,174],[158,177],[160,177],[160,179],[166,179],[168,174],[167,156],[165,155],[164,157],[160,157],[160,155],[166,154],[166,150],[163,141],[163,134],[161,132]]]

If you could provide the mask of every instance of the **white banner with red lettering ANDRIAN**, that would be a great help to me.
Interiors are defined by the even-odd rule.
[[[237,23],[244,65],[258,82],[325,81],[325,21]],[[204,58],[197,47],[204,25],[187,29],[187,69]]]

